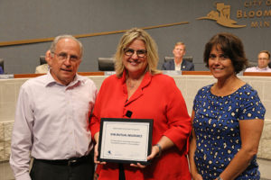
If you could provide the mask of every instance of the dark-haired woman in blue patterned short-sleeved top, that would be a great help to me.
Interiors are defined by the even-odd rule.
[[[217,82],[194,99],[192,178],[260,179],[256,155],[266,109],[257,91],[237,76],[248,65],[241,40],[216,34],[205,45],[204,62]]]

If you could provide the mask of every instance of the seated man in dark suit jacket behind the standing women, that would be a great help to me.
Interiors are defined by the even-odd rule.
[[[174,59],[168,62],[164,62],[162,70],[194,70],[194,65],[188,60],[183,60],[182,57],[185,55],[185,44],[183,42],[177,42],[173,49]]]

